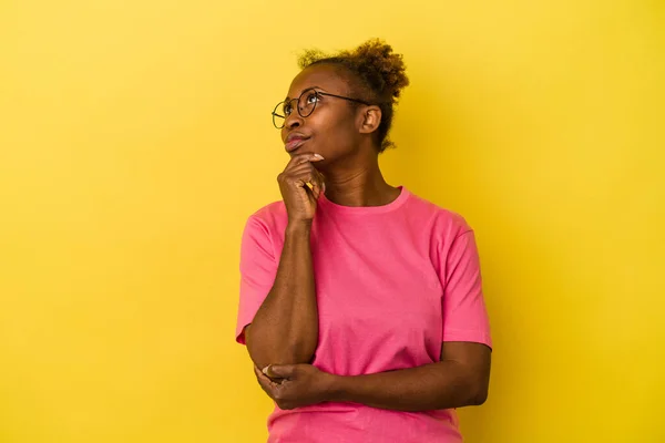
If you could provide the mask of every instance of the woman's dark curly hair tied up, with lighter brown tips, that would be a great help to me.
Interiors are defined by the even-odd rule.
[[[376,103],[381,110],[381,123],[378,128],[379,153],[395,144],[388,137],[392,125],[395,105],[401,90],[409,84],[406,65],[401,54],[380,39],[370,39],[358,48],[326,54],[317,49],[306,50],[298,58],[300,69],[316,64],[342,66],[359,81],[362,99]]]

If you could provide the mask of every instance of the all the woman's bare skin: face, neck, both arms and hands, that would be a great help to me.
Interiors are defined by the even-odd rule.
[[[340,68],[315,65],[294,79],[288,97],[309,87],[354,97],[354,86],[352,75]],[[399,196],[399,188],[388,185],[379,169],[380,121],[378,106],[351,106],[324,96],[311,115],[303,119],[293,112],[282,130],[285,143],[290,134],[306,141],[289,153],[278,177],[288,225],[275,285],[245,328],[257,380],[282,409],[342,401],[427,411],[482,404],[487,399],[491,350],[480,343],[443,342],[439,362],[367,375],[330,374],[310,364],[318,342],[309,249],[316,202],[324,185],[326,197],[344,206],[382,206]]]

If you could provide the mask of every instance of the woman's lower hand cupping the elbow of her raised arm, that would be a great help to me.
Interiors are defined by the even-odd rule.
[[[254,372],[263,390],[285,410],[328,401],[335,380],[311,364],[270,364],[264,371],[255,365]]]

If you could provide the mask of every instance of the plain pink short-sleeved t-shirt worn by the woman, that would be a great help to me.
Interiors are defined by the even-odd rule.
[[[314,365],[370,374],[440,360],[442,341],[492,346],[473,231],[464,219],[400,186],[383,206],[318,200],[311,257],[319,313]],[[236,340],[270,290],[284,247],[284,202],[247,220],[241,248]],[[458,443],[454,410],[389,411],[327,402],[275,406],[268,442]]]

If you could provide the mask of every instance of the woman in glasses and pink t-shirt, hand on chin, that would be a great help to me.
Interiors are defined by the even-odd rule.
[[[273,116],[283,202],[247,220],[236,340],[276,402],[269,442],[461,442],[491,338],[464,219],[386,183],[409,81],[379,40],[307,52]]]

